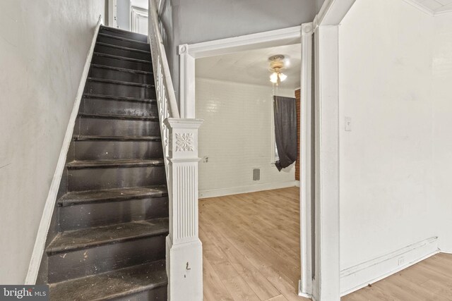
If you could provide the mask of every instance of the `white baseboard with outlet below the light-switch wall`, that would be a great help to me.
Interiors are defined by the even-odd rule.
[[[437,253],[439,253],[438,238],[433,237],[344,269],[340,271],[340,295],[364,288]]]

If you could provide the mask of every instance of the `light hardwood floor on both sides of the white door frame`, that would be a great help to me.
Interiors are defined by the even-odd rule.
[[[308,299],[300,277],[299,189],[199,201],[204,300]],[[437,254],[341,301],[452,300],[452,255]]]

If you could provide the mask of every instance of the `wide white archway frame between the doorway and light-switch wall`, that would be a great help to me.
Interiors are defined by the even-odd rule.
[[[340,300],[339,27],[355,0],[325,0],[314,18],[315,275],[313,300]]]

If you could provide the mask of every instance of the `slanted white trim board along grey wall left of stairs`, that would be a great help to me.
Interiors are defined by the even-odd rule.
[[[45,240],[47,238],[47,233],[49,232],[50,222],[52,221],[52,214],[54,211],[55,202],[57,202],[57,194],[59,190],[59,184],[61,182],[61,176],[63,176],[64,166],[66,165],[66,156],[68,154],[69,145],[71,144],[72,141],[73,127],[76,123],[78,108],[80,107],[80,102],[83,96],[83,90],[85,89],[85,82],[86,79],[88,78],[88,71],[90,70],[91,58],[93,57],[94,47],[97,39],[97,32],[99,32],[101,24],[102,16],[99,16],[99,20],[97,21],[97,25],[93,36],[93,41],[91,42],[90,51],[88,51],[85,66],[83,67],[83,73],[80,80],[80,84],[78,85],[76,99],[73,104],[71,116],[69,117],[68,127],[66,128],[66,135],[64,135],[63,145],[61,147],[61,152],[59,153],[57,168],[55,168],[54,178],[52,179],[52,183],[50,184],[49,194],[47,195],[44,210],[42,211],[40,228],[38,228],[37,230],[35,247],[33,247],[33,253],[30,259],[30,265],[28,266],[25,284],[32,285],[36,283],[37,273],[40,269],[42,254],[44,253]]]

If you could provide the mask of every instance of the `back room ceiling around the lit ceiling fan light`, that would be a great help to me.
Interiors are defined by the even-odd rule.
[[[283,54],[286,68],[282,72],[287,79],[280,87],[297,89],[301,82],[301,53],[301,44],[293,44],[196,59],[196,77],[269,86],[268,58]]]

